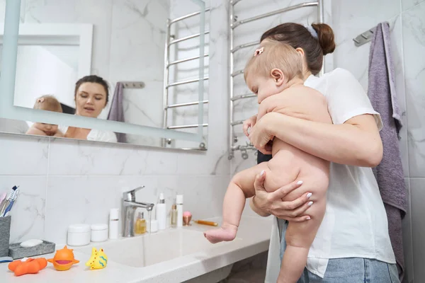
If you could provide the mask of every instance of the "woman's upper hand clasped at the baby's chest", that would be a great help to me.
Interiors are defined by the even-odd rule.
[[[271,141],[273,140],[273,134],[269,129],[271,122],[274,122],[275,115],[281,115],[275,112],[269,112],[260,120],[256,121],[254,126],[249,131],[249,141],[256,147],[262,154],[271,154]]]

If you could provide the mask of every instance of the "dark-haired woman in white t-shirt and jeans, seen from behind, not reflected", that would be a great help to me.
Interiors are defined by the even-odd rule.
[[[334,51],[334,34],[329,25],[305,28],[284,23],[266,31],[262,40],[279,40],[294,47],[303,58],[305,86],[327,97],[333,125],[288,117],[271,112],[256,121],[244,122],[244,132],[263,154],[270,154],[268,142],[277,137],[302,151],[331,161],[327,210],[310,248],[307,268],[299,282],[399,282],[395,256],[387,228],[387,216],[371,167],[382,158],[380,115],[373,110],[360,83],[346,70],[335,69],[320,78],[323,55]],[[251,208],[261,216],[273,214],[290,221],[308,221],[307,198],[293,203],[280,200],[295,183],[268,193],[266,176],[257,176],[256,196]],[[312,204],[314,205],[314,204]],[[294,209],[295,208],[295,209]],[[290,210],[292,209],[292,210]],[[305,213],[304,213],[305,212]],[[285,249],[285,221],[277,221],[282,231],[280,254]],[[272,235],[271,246],[273,246]],[[270,249],[269,282],[276,276],[276,257]],[[281,256],[280,255],[280,256]],[[278,270],[277,270],[278,272]],[[276,282],[276,277],[274,277]]]

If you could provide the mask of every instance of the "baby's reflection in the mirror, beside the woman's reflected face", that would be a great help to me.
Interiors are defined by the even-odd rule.
[[[55,96],[41,96],[37,98],[33,108],[62,113],[62,106]],[[57,125],[38,122],[35,122],[26,133],[37,134],[38,136],[64,137],[64,134],[57,129]]]

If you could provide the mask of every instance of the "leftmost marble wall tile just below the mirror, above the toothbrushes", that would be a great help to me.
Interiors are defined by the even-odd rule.
[[[49,140],[0,133],[0,175],[46,175]]]

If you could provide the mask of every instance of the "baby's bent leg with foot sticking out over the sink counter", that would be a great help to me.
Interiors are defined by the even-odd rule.
[[[204,233],[208,241],[218,243],[221,241],[232,241],[236,237],[245,200],[254,196],[255,177],[263,170],[268,170],[267,162],[260,163],[234,175],[227,187],[223,202],[222,226],[220,229],[212,229]]]

